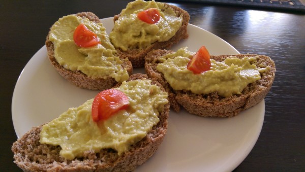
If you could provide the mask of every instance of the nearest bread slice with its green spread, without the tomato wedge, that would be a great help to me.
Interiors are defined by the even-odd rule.
[[[144,83],[144,86],[141,85],[141,82]],[[130,86],[128,88],[140,87],[143,88],[143,91],[137,92],[137,90],[126,89],[126,86]],[[149,87],[149,89],[146,89],[146,87]],[[91,108],[88,106],[92,105],[92,100],[88,100],[82,106],[69,109],[67,113],[63,113],[58,118],[54,119],[60,121],[59,123],[56,123],[56,125],[54,125],[55,123],[53,120],[45,125],[33,127],[30,131],[20,137],[20,139],[13,143],[12,146],[15,159],[14,162],[24,171],[132,171],[137,166],[143,164],[156,152],[166,134],[167,119],[169,114],[169,101],[167,93],[160,83],[149,80],[144,74],[132,75],[128,82],[123,82],[121,85],[118,84],[115,89],[119,89],[122,92],[127,91],[125,93],[128,97],[131,94],[134,95],[129,97],[130,107],[128,109],[116,112],[117,114],[114,114],[109,119],[96,124],[93,121],[93,118],[90,117]],[[143,95],[141,96],[138,94]],[[150,97],[148,99],[151,100],[152,105],[143,106],[143,111],[139,110],[141,108],[139,108],[137,101],[141,101],[144,103],[144,105],[146,105],[146,100],[143,99],[146,99],[147,97]],[[161,98],[159,99],[157,97]],[[158,99],[160,101],[158,101]],[[72,115],[76,110],[79,110],[76,113],[77,115]],[[89,114],[86,114],[86,111],[88,111]],[[81,113],[82,115],[80,115]],[[128,115],[127,113],[130,114]],[[149,117],[145,117],[147,114],[149,114]],[[62,118],[65,116],[69,116],[69,118],[62,120]],[[155,121],[154,123],[157,124],[148,129],[147,133],[141,137],[139,137],[139,135],[141,135],[142,132],[139,132],[139,134],[135,133],[133,125],[151,125],[151,122],[145,122],[144,120],[150,120],[156,117],[158,121]],[[64,121],[69,121],[71,118],[80,118],[80,122],[65,125]],[[127,120],[124,122],[122,119]],[[136,122],[133,122],[133,119],[135,119]],[[82,121],[86,120],[89,121],[82,123]],[[120,125],[122,123],[123,125]],[[132,125],[127,125],[127,123]],[[78,134],[83,131],[80,130],[82,124],[89,128],[96,125],[97,126],[94,131],[87,130],[86,132],[89,132],[89,134],[81,136]],[[77,126],[73,128],[74,125]],[[118,125],[120,125],[120,127],[117,127]],[[56,127],[62,128],[63,131],[60,130],[59,132]],[[110,130],[108,128],[110,128]],[[120,132],[121,128],[126,128],[126,130],[124,130],[124,132]],[[73,130],[77,130],[77,132],[73,132]],[[95,132],[95,130],[98,131]],[[63,133],[67,131],[71,131],[73,134]],[[100,132],[104,134],[99,134]],[[131,133],[128,134],[129,132]],[[114,136],[114,139],[104,139],[105,144],[102,144],[102,146],[109,148],[98,149],[97,147],[101,145],[100,143],[102,141],[88,139],[96,133],[97,137],[103,137],[107,134]],[[116,150],[117,145],[120,145],[120,141],[125,141],[125,137],[120,137],[121,139],[118,140],[115,138],[117,135],[121,135],[122,133],[131,137],[133,140],[127,140],[126,142],[129,144],[128,149],[125,151],[120,151],[119,153],[119,151]],[[77,135],[81,136],[81,139],[79,139]],[[62,148],[62,145],[56,146],[41,143],[41,141],[45,140],[57,141],[60,136],[67,142],[74,140],[77,141],[77,143],[68,146],[66,149],[64,149],[65,147]],[[42,137],[44,139],[41,139]],[[136,142],[133,143],[135,140]],[[111,141],[114,143],[112,146],[109,146],[108,143]],[[85,144],[91,143],[94,146],[87,148],[87,145],[84,145],[83,142],[85,142]],[[88,150],[76,154],[76,150],[74,149],[75,145],[82,146]],[[62,150],[65,150],[65,153],[63,153]],[[71,158],[71,155],[76,157]],[[65,156],[68,156],[68,158],[65,158]]]

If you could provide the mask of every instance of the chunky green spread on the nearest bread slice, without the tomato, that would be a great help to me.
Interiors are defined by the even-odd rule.
[[[115,88],[129,97],[130,106],[105,121],[93,121],[94,99],[78,108],[70,108],[43,126],[40,143],[59,145],[62,148],[60,155],[70,160],[82,157],[85,151],[99,152],[106,148],[114,149],[120,155],[159,122],[158,115],[168,103],[167,93],[150,83],[150,80],[124,81]]]

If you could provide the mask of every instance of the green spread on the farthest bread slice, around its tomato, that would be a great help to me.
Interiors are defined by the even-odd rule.
[[[155,24],[148,24],[137,17],[139,12],[149,8],[156,8],[160,12],[160,20]],[[175,11],[164,3],[136,0],[121,11],[109,37],[111,43],[123,51],[143,49],[157,41],[168,41],[181,24],[182,16],[176,17]]]

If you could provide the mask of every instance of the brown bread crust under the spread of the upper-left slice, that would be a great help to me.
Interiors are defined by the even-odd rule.
[[[79,17],[86,17],[90,21],[100,23],[100,19],[98,16],[96,16],[92,12],[82,12],[75,14]],[[55,67],[56,71],[64,77],[66,80],[71,82],[72,84],[76,85],[80,88],[90,89],[90,90],[105,90],[113,87],[117,82],[112,77],[106,77],[106,78],[92,78],[87,76],[86,74],[80,72],[80,71],[71,71],[65,68],[64,66],[60,65],[55,57],[54,57],[54,44],[49,40],[49,34],[46,39],[46,48],[47,48],[47,54],[49,61],[51,64]],[[126,68],[129,75],[132,74],[132,64],[131,62],[123,56],[120,56],[120,59],[123,61],[121,66],[123,68]]]

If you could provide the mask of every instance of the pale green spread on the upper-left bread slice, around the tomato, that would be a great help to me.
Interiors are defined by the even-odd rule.
[[[84,23],[88,29],[95,32],[101,44],[88,48],[75,45],[73,33],[80,23]],[[110,43],[102,23],[95,23],[75,15],[64,16],[51,27],[49,40],[54,44],[56,61],[68,70],[81,71],[92,78],[111,76],[117,82],[129,78],[126,68],[121,66],[123,61],[116,55],[116,50]]]

